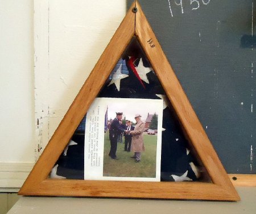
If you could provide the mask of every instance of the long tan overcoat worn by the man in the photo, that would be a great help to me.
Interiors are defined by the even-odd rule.
[[[131,151],[132,152],[143,152],[144,142],[143,142],[143,132],[144,132],[145,124],[140,121],[135,125],[134,131],[131,131],[131,135],[133,138],[131,139]]]

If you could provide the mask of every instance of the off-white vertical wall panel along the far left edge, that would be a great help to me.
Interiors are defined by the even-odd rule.
[[[0,162],[34,161],[33,1],[0,1]]]

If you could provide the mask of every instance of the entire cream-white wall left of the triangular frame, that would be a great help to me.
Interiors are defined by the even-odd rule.
[[[0,191],[23,183],[125,12],[125,0],[0,0]]]

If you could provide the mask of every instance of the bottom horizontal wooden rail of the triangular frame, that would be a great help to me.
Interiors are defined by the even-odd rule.
[[[48,179],[30,195],[97,196],[113,198],[159,198],[237,200],[216,184],[199,182],[123,182]],[[51,191],[51,190],[58,191]]]

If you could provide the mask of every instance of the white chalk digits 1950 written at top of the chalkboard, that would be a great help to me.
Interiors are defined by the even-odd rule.
[[[201,5],[208,5],[210,1],[211,0],[168,0],[168,5],[171,16],[174,17],[172,7],[179,6],[181,14],[184,14],[185,10],[197,10]],[[185,3],[190,3],[190,6],[187,6]]]

